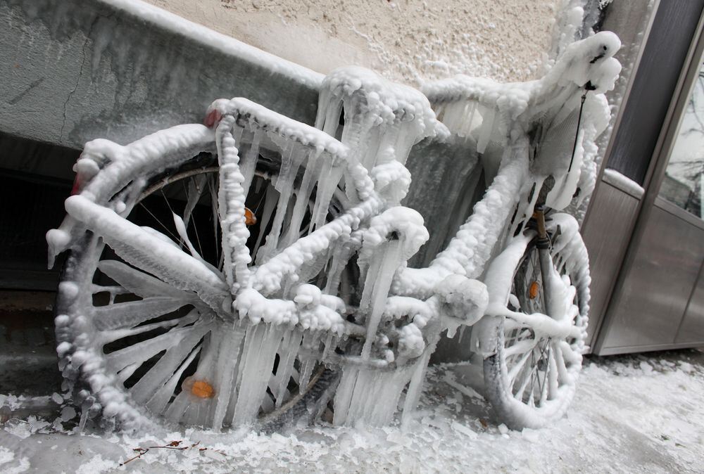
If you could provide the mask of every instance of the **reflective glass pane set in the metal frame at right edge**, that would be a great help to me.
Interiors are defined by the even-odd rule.
[[[704,67],[696,83],[674,142],[660,197],[704,218]]]

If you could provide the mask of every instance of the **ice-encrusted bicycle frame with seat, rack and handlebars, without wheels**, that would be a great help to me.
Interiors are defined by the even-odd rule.
[[[505,282],[494,288],[486,281],[488,267],[501,261],[515,241],[524,241],[524,227],[540,196],[545,205],[560,210],[572,203],[577,188],[581,198],[593,188],[597,153],[593,142],[608,124],[603,92],[613,87],[620,70],[612,58],[619,47],[615,35],[603,32],[567,48],[548,75],[534,82],[497,84],[456,77],[429,84],[422,92],[391,84],[367,70],[344,68],[322,84],[316,127],[235,98],[215,101],[206,126],[174,127],[128,146],[88,143],[77,163],[77,196],[66,201],[69,215],[60,229],[47,234],[50,255],[87,245],[86,231],[96,233],[120,249],[125,261],[146,262],[144,271],[195,293],[218,321],[241,330],[243,353],[244,345],[267,347],[260,354],[268,358],[264,365],[269,359],[274,364],[287,331],[299,331],[302,340],[292,350],[302,354],[301,390],[308,387],[315,364],[337,366],[341,376],[334,423],[387,423],[406,387],[404,414],[415,406],[442,331],[452,335],[459,326],[480,322],[482,328],[472,335],[472,349],[484,357],[496,352],[496,336],[487,333],[491,325],[486,321],[513,316],[507,308]],[[587,113],[582,120],[580,98],[585,95]],[[576,123],[579,129],[574,129]],[[574,147],[571,142],[568,148],[562,146],[565,129],[577,134]],[[401,201],[410,186],[408,153],[422,139],[460,143],[468,154],[479,156],[491,184],[447,247],[428,267],[416,269],[408,268],[408,260],[429,233],[420,214],[401,206]],[[244,214],[260,149],[281,158],[275,186],[282,197],[272,231],[252,264]],[[203,150],[218,155],[222,275],[211,271],[198,255],[169,248],[125,219],[134,205],[130,196],[144,191],[145,173],[177,167],[184,160],[179,156]],[[298,167],[303,169],[300,176]],[[548,181],[551,189],[546,186],[543,192]],[[309,230],[300,236],[312,193]],[[344,196],[347,207],[328,219],[336,194]],[[287,214],[289,200],[293,208]],[[284,219],[289,229],[284,229]],[[540,232],[543,236],[544,229]],[[552,275],[549,255],[543,254],[543,274]],[[355,264],[358,301],[344,300],[339,291],[341,273]],[[325,286],[308,283],[321,272]],[[89,346],[83,352],[99,353],[100,347],[82,336],[69,342],[72,331],[98,334],[99,328],[84,328],[80,308],[72,306],[75,288],[65,286],[61,292],[68,301],[66,312],[79,314],[77,322],[65,322],[66,327],[57,329],[61,357],[70,359],[80,344]],[[524,320],[564,332],[559,324],[529,316]],[[260,331],[260,324],[271,330]],[[344,347],[341,354],[332,350],[338,346]],[[86,378],[93,370],[103,368],[99,364],[84,368]],[[263,383],[266,389],[268,380]],[[110,391],[103,403],[127,399],[119,388],[96,383],[93,390],[99,396]],[[239,392],[233,396],[239,397]],[[235,410],[235,424],[256,416],[256,394],[247,397],[244,402],[237,399],[237,406],[244,408]],[[212,422],[216,429],[225,416],[222,402],[218,403],[218,409],[210,409],[218,413]],[[125,415],[130,422],[138,418],[139,409]]]

